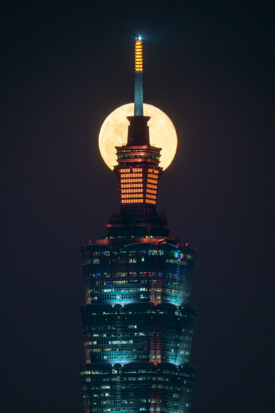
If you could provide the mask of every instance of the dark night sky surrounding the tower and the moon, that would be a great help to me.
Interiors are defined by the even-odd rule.
[[[223,4],[225,3],[225,4]],[[80,245],[119,205],[105,117],[144,100],[178,150],[158,208],[197,248],[192,413],[272,411],[272,20],[264,2],[6,2],[2,8],[3,413],[82,413]]]

